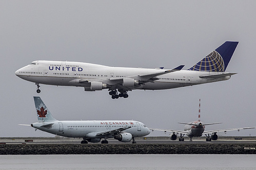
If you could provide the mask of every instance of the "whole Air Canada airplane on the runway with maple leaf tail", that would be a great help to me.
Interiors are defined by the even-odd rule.
[[[81,143],[108,143],[106,139],[115,138],[122,142],[136,143],[134,137],[146,136],[150,130],[141,122],[134,120],[66,120],[53,118],[40,97],[34,96],[37,123],[30,126],[54,135],[83,138]],[[28,125],[29,126],[29,125]]]

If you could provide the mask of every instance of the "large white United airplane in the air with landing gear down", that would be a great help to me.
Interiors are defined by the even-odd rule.
[[[108,89],[112,99],[128,98],[135,89],[163,90],[230,79],[236,73],[225,72],[238,42],[226,41],[187,70],[110,67],[71,61],[33,61],[15,75],[37,85],[84,87],[85,91]]]

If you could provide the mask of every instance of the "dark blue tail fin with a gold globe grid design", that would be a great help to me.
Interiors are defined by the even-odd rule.
[[[238,42],[226,41],[189,70],[224,72],[237,47]]]

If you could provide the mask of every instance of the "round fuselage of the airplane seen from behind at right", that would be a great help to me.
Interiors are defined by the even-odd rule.
[[[187,131],[187,136],[189,137],[200,137],[204,133],[205,126],[203,122],[195,121],[190,122],[189,124],[195,125],[185,125],[184,131]]]

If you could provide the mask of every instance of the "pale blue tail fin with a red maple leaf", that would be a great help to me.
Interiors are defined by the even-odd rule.
[[[56,119],[52,117],[51,112],[47,109],[46,105],[40,97],[34,96],[34,102],[38,122],[56,121]]]

